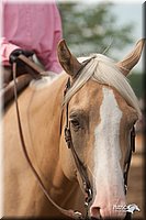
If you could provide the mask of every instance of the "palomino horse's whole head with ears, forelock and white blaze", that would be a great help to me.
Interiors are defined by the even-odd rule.
[[[97,219],[124,219],[126,215],[114,208],[126,206],[123,173],[131,152],[131,131],[141,117],[126,76],[137,64],[143,46],[141,40],[132,53],[115,63],[101,54],[77,59],[64,40],[58,45],[59,62],[70,78],[63,103],[61,167],[66,177],[77,179],[83,190],[72,152],[65,142],[67,123],[74,150],[91,184],[90,216]]]

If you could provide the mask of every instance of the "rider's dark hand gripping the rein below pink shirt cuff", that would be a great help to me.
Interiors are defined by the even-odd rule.
[[[30,57],[30,56],[33,56],[34,52],[32,52],[32,51],[25,51],[25,50],[22,50],[22,48],[16,48],[16,50],[14,50],[10,54],[10,56],[9,56],[9,63],[13,64],[14,62],[16,62],[18,56],[21,55],[21,54],[24,55],[24,56],[26,56],[26,57]]]

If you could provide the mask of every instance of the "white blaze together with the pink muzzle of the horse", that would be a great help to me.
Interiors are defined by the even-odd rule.
[[[114,112],[113,112],[114,109]],[[93,177],[94,199],[90,208],[91,217],[124,218],[117,207],[126,205],[120,148],[120,110],[114,94],[103,87],[100,107],[101,121],[94,130]]]

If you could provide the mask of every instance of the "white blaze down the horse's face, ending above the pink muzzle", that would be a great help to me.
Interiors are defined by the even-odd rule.
[[[123,174],[120,167],[120,121],[122,111],[117,106],[113,91],[105,87],[103,87],[102,91],[101,120],[94,130],[93,175],[96,177],[94,187],[101,186],[102,190],[105,190],[104,194],[108,194],[109,190],[111,191],[112,184],[121,185],[120,188],[122,189]],[[115,175],[112,176],[111,172]],[[100,187],[99,190],[97,188],[97,194],[100,194]],[[116,197],[116,195],[113,196]]]

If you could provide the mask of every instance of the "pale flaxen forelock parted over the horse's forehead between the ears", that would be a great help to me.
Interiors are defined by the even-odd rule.
[[[141,117],[138,100],[130,86],[127,78],[119,70],[115,63],[102,54],[93,54],[91,57],[91,61],[85,66],[79,77],[67,92],[64,105],[67,103],[89,79],[92,79],[100,84],[114,87]],[[79,61],[82,62],[87,58],[90,57],[80,57]]]

